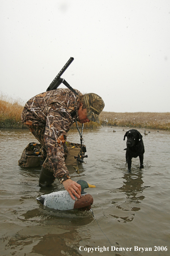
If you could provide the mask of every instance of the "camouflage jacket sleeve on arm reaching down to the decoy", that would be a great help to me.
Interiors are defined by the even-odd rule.
[[[55,104],[56,105],[56,104]],[[47,115],[45,130],[45,145],[49,164],[54,170],[55,178],[67,176],[70,178],[64,159],[64,143],[67,138],[72,118],[64,108],[53,106]]]

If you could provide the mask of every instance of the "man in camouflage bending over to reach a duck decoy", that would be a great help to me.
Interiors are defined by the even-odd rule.
[[[80,198],[81,186],[70,179],[64,159],[67,132],[77,120],[80,123],[99,122],[104,102],[97,94],[81,94],[58,88],[28,100],[21,115],[22,122],[46,150],[46,160],[39,176],[39,185],[48,186],[55,178],[70,196]],[[73,193],[73,194],[72,194]]]

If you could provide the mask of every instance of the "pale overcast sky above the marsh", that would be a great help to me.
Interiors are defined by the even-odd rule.
[[[74,57],[62,78],[104,111],[170,112],[170,0],[1,0],[0,33],[3,94],[26,102]]]

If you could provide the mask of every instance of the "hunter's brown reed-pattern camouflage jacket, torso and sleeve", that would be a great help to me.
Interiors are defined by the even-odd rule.
[[[78,90],[75,90],[79,95]],[[28,100],[21,115],[22,122],[29,126],[44,126],[45,146],[54,176],[69,176],[64,161],[64,144],[67,132],[75,122],[79,109],[79,97],[69,89],[38,94]]]

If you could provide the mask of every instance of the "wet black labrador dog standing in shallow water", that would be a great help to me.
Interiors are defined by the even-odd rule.
[[[145,153],[145,148],[143,144],[142,134],[139,131],[132,129],[125,133],[124,139],[127,137],[126,146],[126,162],[128,170],[131,170],[132,158],[139,156],[140,158],[140,168],[143,168],[143,154]]]

